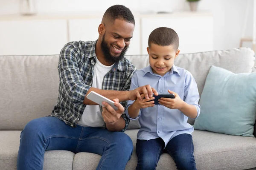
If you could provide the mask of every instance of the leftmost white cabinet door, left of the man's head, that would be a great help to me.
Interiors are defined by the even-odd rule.
[[[66,20],[0,21],[0,55],[59,54],[65,43]]]

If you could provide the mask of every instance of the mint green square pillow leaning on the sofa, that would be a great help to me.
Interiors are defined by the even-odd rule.
[[[236,136],[253,136],[256,119],[256,72],[234,74],[212,66],[201,99],[201,113],[193,125]]]

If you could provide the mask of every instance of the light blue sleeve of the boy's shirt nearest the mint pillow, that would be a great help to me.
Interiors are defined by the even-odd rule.
[[[186,73],[186,78],[185,78],[184,101],[187,104],[194,105],[196,107],[197,109],[196,118],[197,118],[200,114],[200,105],[198,105],[198,101],[199,101],[198,87],[194,77],[189,71]]]

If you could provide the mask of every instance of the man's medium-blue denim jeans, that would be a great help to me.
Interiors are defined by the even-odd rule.
[[[97,170],[124,170],[133,144],[122,132],[79,125],[73,128],[56,117],[42,117],[30,121],[20,134],[17,170],[42,170],[45,150],[96,153],[102,156]]]

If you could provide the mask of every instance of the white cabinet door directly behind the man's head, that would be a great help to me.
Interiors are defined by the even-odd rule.
[[[70,41],[94,41],[99,37],[98,27],[102,18],[73,19],[68,21]],[[140,19],[135,19],[135,28],[128,55],[140,54]]]

